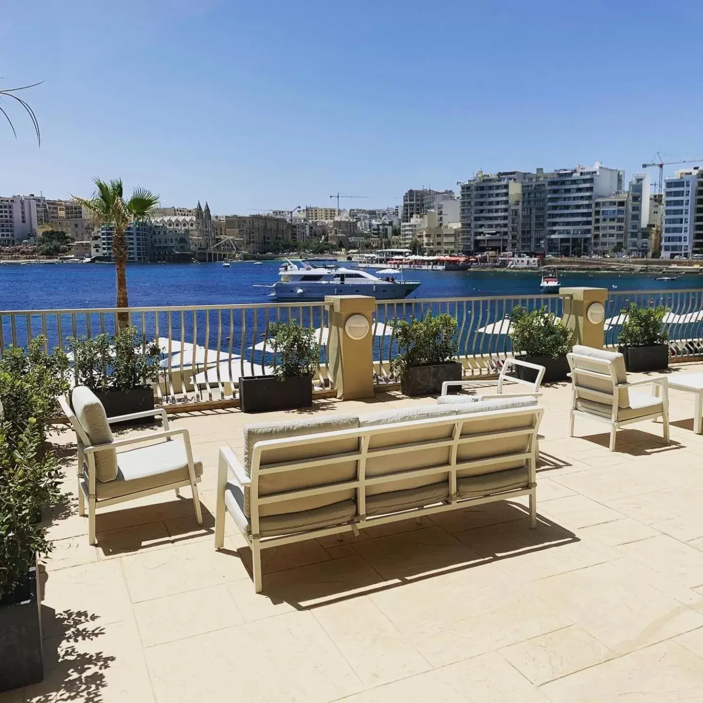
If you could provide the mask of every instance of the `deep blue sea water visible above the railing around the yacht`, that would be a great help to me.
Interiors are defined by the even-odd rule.
[[[278,280],[280,262],[222,264],[130,264],[129,304],[133,307],[229,305],[270,302],[266,288]],[[422,285],[411,298],[484,295],[539,295],[538,271],[405,271]],[[703,288],[703,276],[686,274],[674,281],[656,274],[559,273],[564,286],[608,290],[682,290]],[[112,264],[3,264],[0,266],[0,310],[101,308],[115,306]]]

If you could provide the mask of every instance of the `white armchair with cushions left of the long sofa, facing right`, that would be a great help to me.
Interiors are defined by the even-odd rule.
[[[88,388],[75,387],[71,401],[67,396],[59,403],[76,433],[78,446],[78,508],[85,515],[88,503],[88,539],[96,543],[97,508],[132,501],[143,496],[191,486],[198,524],[202,524],[198,482],[202,462],[193,458],[191,439],[184,427],[169,428],[163,408],[108,418],[103,404]],[[163,429],[143,432],[125,439],[112,437],[110,424],[135,420],[150,415],[160,416]],[[149,446],[117,452],[134,444],[151,442]]]

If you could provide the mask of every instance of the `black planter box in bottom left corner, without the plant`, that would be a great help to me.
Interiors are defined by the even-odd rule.
[[[0,691],[44,678],[37,593],[37,567],[33,566],[25,583],[0,600]]]

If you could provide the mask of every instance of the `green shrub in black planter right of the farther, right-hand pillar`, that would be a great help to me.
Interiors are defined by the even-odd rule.
[[[628,371],[669,368],[669,333],[664,328],[666,308],[640,308],[630,303],[618,335],[618,351]]]

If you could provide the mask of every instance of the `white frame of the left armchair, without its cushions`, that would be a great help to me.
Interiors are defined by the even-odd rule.
[[[126,439],[115,439],[108,444],[91,445],[88,434],[79,423],[78,418],[71,408],[71,404],[66,396],[60,396],[58,402],[61,409],[71,423],[73,430],[76,433],[76,444],[78,447],[78,514],[85,517],[85,504],[88,503],[88,541],[91,545],[95,545],[96,541],[96,510],[98,508],[107,508],[108,505],[116,503],[124,503],[124,501],[134,501],[136,498],[144,496],[152,496],[153,494],[163,493],[164,491],[176,491],[178,494],[179,488],[183,486],[191,486],[193,491],[193,506],[195,508],[195,517],[198,524],[202,524],[202,510],[200,508],[200,496],[198,496],[198,482],[200,476],[195,475],[195,466],[193,463],[193,451],[191,449],[191,437],[185,427],[178,427],[174,430],[169,428],[169,420],[164,408],[155,408],[154,410],[145,410],[139,413],[130,413],[129,415],[117,415],[114,418],[108,418],[108,425],[120,423],[124,420],[137,420],[138,418],[160,417],[163,429],[160,432],[143,432],[136,437],[127,437]],[[186,457],[188,459],[188,478],[155,486],[143,491],[127,493],[121,496],[113,496],[112,498],[101,498],[98,500],[96,496],[96,465],[95,454],[98,451],[107,449],[119,449],[120,447],[129,446],[131,444],[142,444],[146,441],[155,439],[163,439],[171,441],[172,437],[181,435],[183,437],[183,445],[186,449]],[[119,460],[120,454],[117,454]],[[85,467],[88,469],[88,481],[85,479]]]

